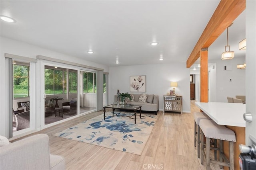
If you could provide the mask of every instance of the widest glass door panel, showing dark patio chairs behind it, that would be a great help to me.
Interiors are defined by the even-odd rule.
[[[78,71],[64,67],[44,66],[44,124],[77,115]]]

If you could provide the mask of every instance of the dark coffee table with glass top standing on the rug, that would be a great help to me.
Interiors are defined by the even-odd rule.
[[[108,105],[108,106],[104,106],[103,107],[103,112],[104,112],[104,120],[105,120],[105,112],[106,112],[106,108],[112,108],[113,109],[113,116],[114,116],[114,111],[115,109],[120,109],[120,110],[132,110],[134,111],[134,118],[130,117],[130,116],[127,116],[131,119],[134,119],[134,123],[136,124],[136,112],[138,109],[140,109],[140,118],[141,118],[141,106],[118,106],[116,104],[111,104],[111,105]],[[124,116],[124,115],[123,115]]]

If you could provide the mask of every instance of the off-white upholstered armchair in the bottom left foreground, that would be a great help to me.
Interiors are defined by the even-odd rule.
[[[48,135],[33,135],[13,143],[0,137],[0,170],[65,170],[64,158],[50,154]]]

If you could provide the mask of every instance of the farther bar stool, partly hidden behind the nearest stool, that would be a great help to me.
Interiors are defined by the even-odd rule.
[[[195,119],[195,125],[194,125],[194,145],[196,147],[197,142],[197,157],[200,158],[200,127],[199,122],[201,119],[211,119],[203,112],[194,112],[194,119]]]

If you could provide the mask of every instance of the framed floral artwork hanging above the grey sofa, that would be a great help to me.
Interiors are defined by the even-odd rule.
[[[130,76],[130,92],[146,92],[146,76]]]

